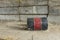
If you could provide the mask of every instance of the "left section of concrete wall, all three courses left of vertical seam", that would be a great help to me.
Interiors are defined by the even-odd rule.
[[[18,0],[0,0],[0,20],[18,21]]]

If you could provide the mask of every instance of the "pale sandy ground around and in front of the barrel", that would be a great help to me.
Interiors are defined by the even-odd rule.
[[[20,22],[0,22],[0,38],[11,40],[60,40],[60,25],[49,22],[46,31],[20,29]]]

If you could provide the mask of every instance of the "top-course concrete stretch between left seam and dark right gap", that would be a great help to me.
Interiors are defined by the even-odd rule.
[[[47,0],[20,0],[20,6],[47,5]]]

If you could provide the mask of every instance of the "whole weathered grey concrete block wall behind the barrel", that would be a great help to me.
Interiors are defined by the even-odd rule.
[[[47,17],[48,13],[60,16],[59,0],[0,0],[0,20],[27,21],[29,17]]]

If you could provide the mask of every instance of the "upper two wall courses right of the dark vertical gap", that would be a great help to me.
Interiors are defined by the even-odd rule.
[[[49,14],[60,15],[60,0],[49,0]]]

